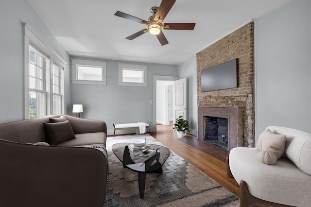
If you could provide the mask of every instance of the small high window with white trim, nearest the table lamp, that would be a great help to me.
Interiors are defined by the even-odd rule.
[[[106,85],[106,62],[71,59],[72,83]]]

